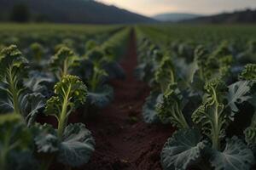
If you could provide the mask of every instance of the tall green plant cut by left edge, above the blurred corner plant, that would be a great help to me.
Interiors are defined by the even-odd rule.
[[[30,93],[23,85],[26,77],[27,60],[14,45],[3,48],[0,54],[1,109],[2,113],[14,112],[22,115],[31,125],[44,108],[44,96]]]

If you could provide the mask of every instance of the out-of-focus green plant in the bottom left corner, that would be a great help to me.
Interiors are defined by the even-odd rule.
[[[0,115],[0,133],[1,169],[38,169],[32,156],[32,133],[20,115]]]

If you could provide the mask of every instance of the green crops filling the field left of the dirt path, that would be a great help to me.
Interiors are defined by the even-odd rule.
[[[113,100],[112,79],[130,28],[121,26],[0,26],[0,167],[80,167],[95,140],[84,118]],[[79,110],[79,123],[68,118]],[[42,122],[42,116],[57,121]]]

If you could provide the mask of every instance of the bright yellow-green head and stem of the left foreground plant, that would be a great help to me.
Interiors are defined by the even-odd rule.
[[[55,96],[47,101],[45,113],[57,118],[59,139],[62,138],[68,116],[79,105],[84,104],[86,96],[87,88],[79,77],[67,75],[55,84]]]

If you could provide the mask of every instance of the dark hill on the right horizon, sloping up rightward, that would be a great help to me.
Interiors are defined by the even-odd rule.
[[[215,14],[212,16],[199,17],[192,20],[183,20],[185,23],[205,23],[205,24],[255,24],[256,9],[235,11],[233,13]]]

